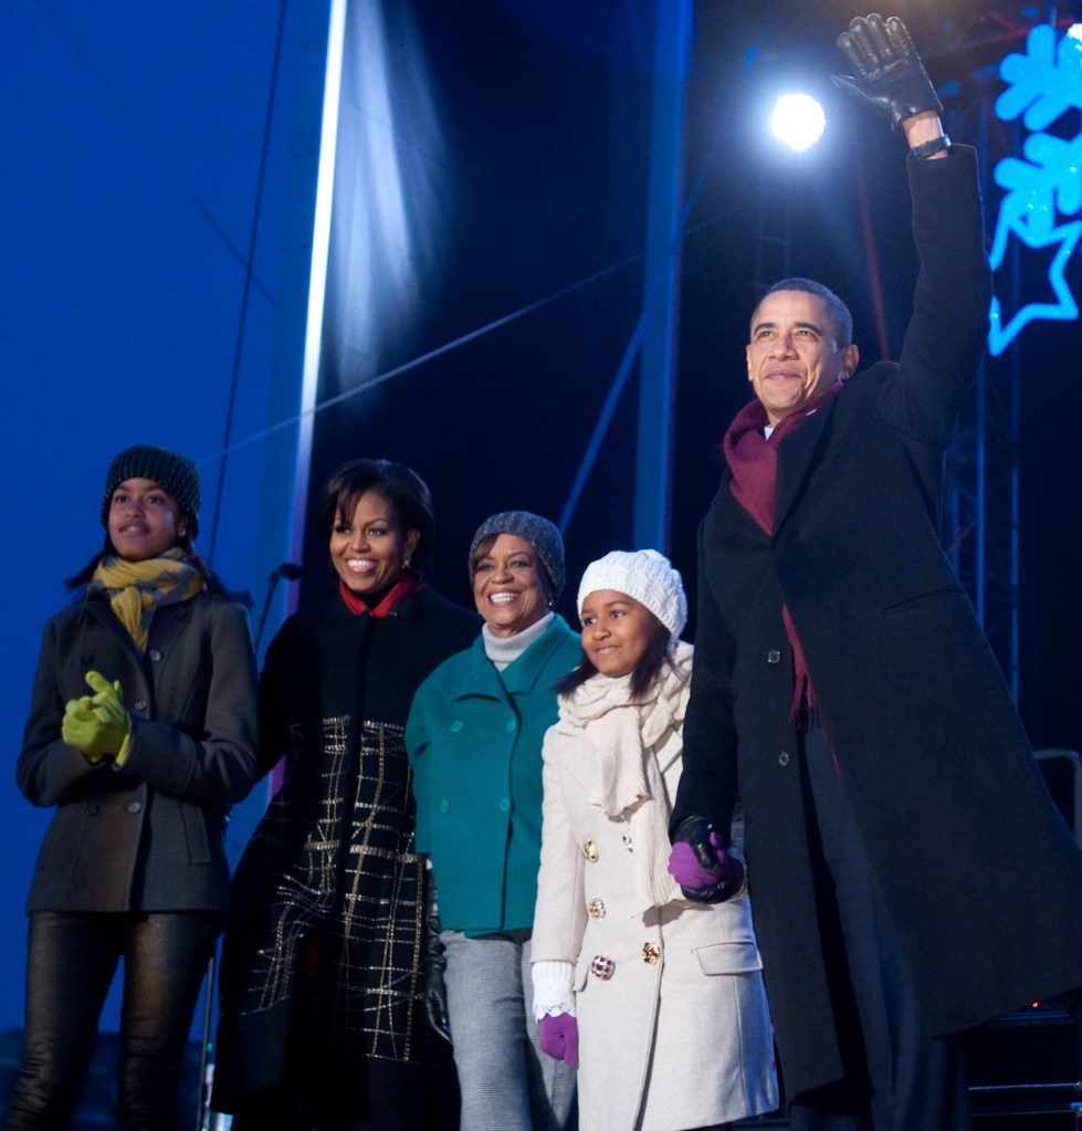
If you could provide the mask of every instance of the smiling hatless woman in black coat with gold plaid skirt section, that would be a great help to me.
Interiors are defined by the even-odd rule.
[[[214,1106],[235,1131],[421,1125],[424,871],[404,728],[477,620],[424,585],[434,520],[409,468],[356,460],[323,492],[338,596],[270,645],[263,766],[285,780],[237,867]]]

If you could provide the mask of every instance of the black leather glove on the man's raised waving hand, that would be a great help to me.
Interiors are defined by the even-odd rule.
[[[897,16],[885,23],[874,14],[858,16],[849,31],[838,36],[838,46],[856,74],[831,75],[834,86],[848,90],[894,126],[928,110],[942,112],[920,55]]]

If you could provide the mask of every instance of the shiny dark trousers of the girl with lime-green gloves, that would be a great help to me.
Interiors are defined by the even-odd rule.
[[[8,1131],[67,1125],[121,957],[118,1126],[175,1126],[188,1031],[220,926],[218,916],[199,913],[31,915],[26,1048]]]

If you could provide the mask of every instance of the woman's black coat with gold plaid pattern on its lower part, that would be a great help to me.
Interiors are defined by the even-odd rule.
[[[416,1010],[424,862],[405,726],[417,688],[477,629],[476,615],[422,588],[382,618],[338,598],[302,610],[271,641],[260,740],[265,768],[285,758],[285,779],[233,883],[217,1111],[279,1080],[291,1039],[318,1062],[305,1087],[324,1099],[363,1093],[367,1056],[429,1054]]]

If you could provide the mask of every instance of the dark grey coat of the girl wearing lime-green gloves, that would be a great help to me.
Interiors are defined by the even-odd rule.
[[[120,680],[132,717],[122,769],[60,735],[89,670]],[[259,777],[256,657],[244,610],[208,592],[161,606],[140,655],[104,596],[45,625],[18,785],[57,813],[27,910],[226,912],[230,806]]]

